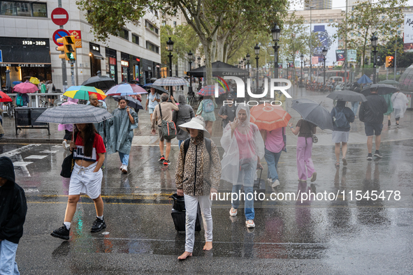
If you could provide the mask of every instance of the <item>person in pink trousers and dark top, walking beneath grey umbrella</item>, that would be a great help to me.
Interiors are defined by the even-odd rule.
[[[311,178],[313,182],[317,179],[317,172],[314,169],[314,163],[312,163],[312,135],[315,135],[317,126],[310,121],[300,119],[296,128],[290,123],[289,127],[294,135],[298,135],[297,139],[297,170],[298,180],[307,182],[307,178]]]

